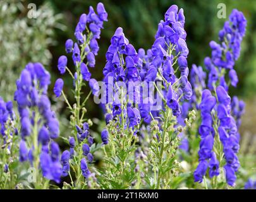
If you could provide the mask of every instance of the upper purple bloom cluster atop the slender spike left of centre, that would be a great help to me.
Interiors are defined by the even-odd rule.
[[[73,63],[75,64],[76,68],[79,68],[82,79],[85,81],[90,81],[91,78],[91,73],[88,70],[88,67],[95,67],[95,56],[99,51],[97,39],[100,39],[101,29],[103,28],[103,21],[107,21],[107,12],[104,8],[104,5],[102,3],[97,4],[97,14],[95,13],[94,8],[90,6],[88,15],[83,13],[80,16],[78,24],[76,25],[76,42],[74,43],[71,39],[66,40],[66,53],[72,53]],[[87,34],[84,32],[87,32]],[[85,57],[87,59],[86,63],[83,62]],[[61,74],[66,72],[67,64],[68,58],[66,56],[60,56],[58,60],[58,69]],[[75,81],[80,81],[80,74],[77,73],[77,70],[78,69],[76,69],[76,73],[74,75]],[[92,83],[94,80],[92,79],[90,82]],[[64,83],[61,78],[56,80],[54,85],[54,93],[56,97],[61,95],[63,84]]]

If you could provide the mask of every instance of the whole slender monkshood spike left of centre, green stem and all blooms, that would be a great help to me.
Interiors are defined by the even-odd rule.
[[[94,145],[94,138],[90,135],[89,131],[89,126],[92,125],[92,122],[85,118],[85,113],[87,112],[85,103],[88,97],[91,93],[97,95],[99,92],[97,81],[91,78],[90,68],[95,67],[95,56],[97,56],[99,51],[97,40],[100,39],[103,22],[107,21],[107,12],[102,3],[97,4],[96,11],[97,13],[90,6],[88,13],[83,13],[80,16],[75,28],[75,39],[66,40],[65,50],[71,56],[74,65],[73,68],[67,66],[67,56],[59,57],[59,72],[64,74],[67,71],[73,80],[75,104],[71,105],[68,97],[64,94],[64,82],[61,78],[56,80],[53,89],[56,97],[63,95],[64,101],[71,111],[70,124],[73,128],[71,132],[72,136],[70,140],[66,140],[70,144],[70,150],[64,151],[65,153],[61,157],[61,164],[63,165],[62,173],[64,176],[69,175],[71,177],[71,186],[75,186],[75,184],[73,177],[70,175],[70,168],[77,170],[74,180],[76,179],[80,184],[76,186],[82,186],[82,181],[79,181],[81,175],[87,179],[87,186],[97,186],[97,183],[91,182],[89,178],[90,171],[88,170],[88,164],[94,160],[93,153],[90,153],[92,152],[90,148]],[[81,100],[83,86],[89,86],[91,90],[84,100]],[[82,159],[82,155],[85,158]],[[95,178],[95,174],[93,176]]]

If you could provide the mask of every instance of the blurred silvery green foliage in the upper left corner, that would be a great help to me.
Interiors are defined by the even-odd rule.
[[[48,47],[56,44],[54,28],[64,28],[58,23],[61,15],[54,15],[50,4],[37,6],[35,19],[28,18],[27,4],[23,0],[0,1],[0,93],[8,100],[13,97],[13,81],[21,67],[29,61],[49,64],[52,56]]]

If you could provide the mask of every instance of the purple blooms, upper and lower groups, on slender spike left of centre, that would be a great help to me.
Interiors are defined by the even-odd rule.
[[[91,78],[91,73],[88,70],[88,67],[95,67],[95,56],[99,51],[99,45],[97,39],[100,39],[101,29],[103,28],[103,22],[107,21],[107,12],[102,3],[97,4],[97,14],[94,11],[94,8],[90,6],[89,12],[86,15],[83,13],[80,16],[80,20],[75,28],[75,38],[76,42],[68,39],[66,40],[65,49],[67,54],[72,54],[73,63],[75,64],[75,74],[74,74],[74,86],[76,90],[78,85],[82,80],[88,81],[88,84],[94,95],[99,91],[99,85],[97,81]],[[87,62],[83,60],[86,58]],[[60,56],[58,60],[58,69],[61,74],[66,72],[68,64],[68,59],[66,56]],[[63,90],[64,82],[61,78],[56,80],[54,85],[54,94],[56,97],[59,97]],[[81,85],[80,85],[81,86]],[[80,109],[78,109],[80,110]],[[80,117],[78,117],[80,118]],[[88,162],[93,162],[94,157],[90,153],[90,146],[94,143],[94,139],[90,136],[88,123],[83,123],[83,129],[78,126],[80,123],[76,123],[76,140],[77,143],[83,144],[82,150],[83,155],[87,157]],[[73,137],[70,137],[70,151],[66,150],[61,156],[61,164],[63,165],[63,176],[68,175],[70,171],[70,158],[73,158],[75,155],[75,145],[76,140]],[[85,141],[87,143],[85,143]],[[79,147],[80,148],[80,147]],[[84,177],[90,175],[88,170],[87,163],[85,158],[81,161],[81,169]]]

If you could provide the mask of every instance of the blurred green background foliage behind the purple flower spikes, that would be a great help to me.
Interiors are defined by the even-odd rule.
[[[42,62],[51,72],[52,92],[54,81],[59,77],[56,68],[58,57],[65,54],[64,42],[74,39],[73,31],[82,13],[88,13],[88,7],[96,6],[95,0],[39,0],[39,1],[0,1],[0,95],[10,99],[15,90],[15,80],[27,62]],[[28,4],[37,6],[37,18],[27,17]],[[104,23],[100,51],[96,57],[96,67],[92,76],[97,80],[102,78],[102,68],[105,64],[105,53],[109,40],[117,27],[123,27],[126,37],[136,49],[149,49],[154,42],[157,24],[163,19],[164,13],[172,4],[184,9],[187,32],[187,44],[190,49],[189,66],[193,63],[202,65],[205,56],[210,55],[209,42],[217,40],[217,33],[227,19],[217,18],[217,5],[226,5],[226,17],[232,9],[243,11],[248,20],[247,32],[242,44],[240,59],[235,69],[240,78],[238,88],[231,89],[232,95],[238,95],[247,103],[246,114],[243,117],[242,133],[256,134],[256,1],[244,0],[102,0],[109,15]],[[64,78],[64,91],[68,92],[73,81]],[[87,92],[88,89],[85,89]],[[52,101],[56,101],[51,95]],[[60,114],[66,113],[61,102],[54,102],[55,109]],[[102,119],[99,106],[92,100],[88,103],[89,117]],[[101,115],[100,115],[101,114]],[[63,116],[62,116],[63,117]],[[66,114],[68,117],[68,114]],[[63,119],[63,120],[62,120]],[[62,123],[67,121],[61,118]]]

